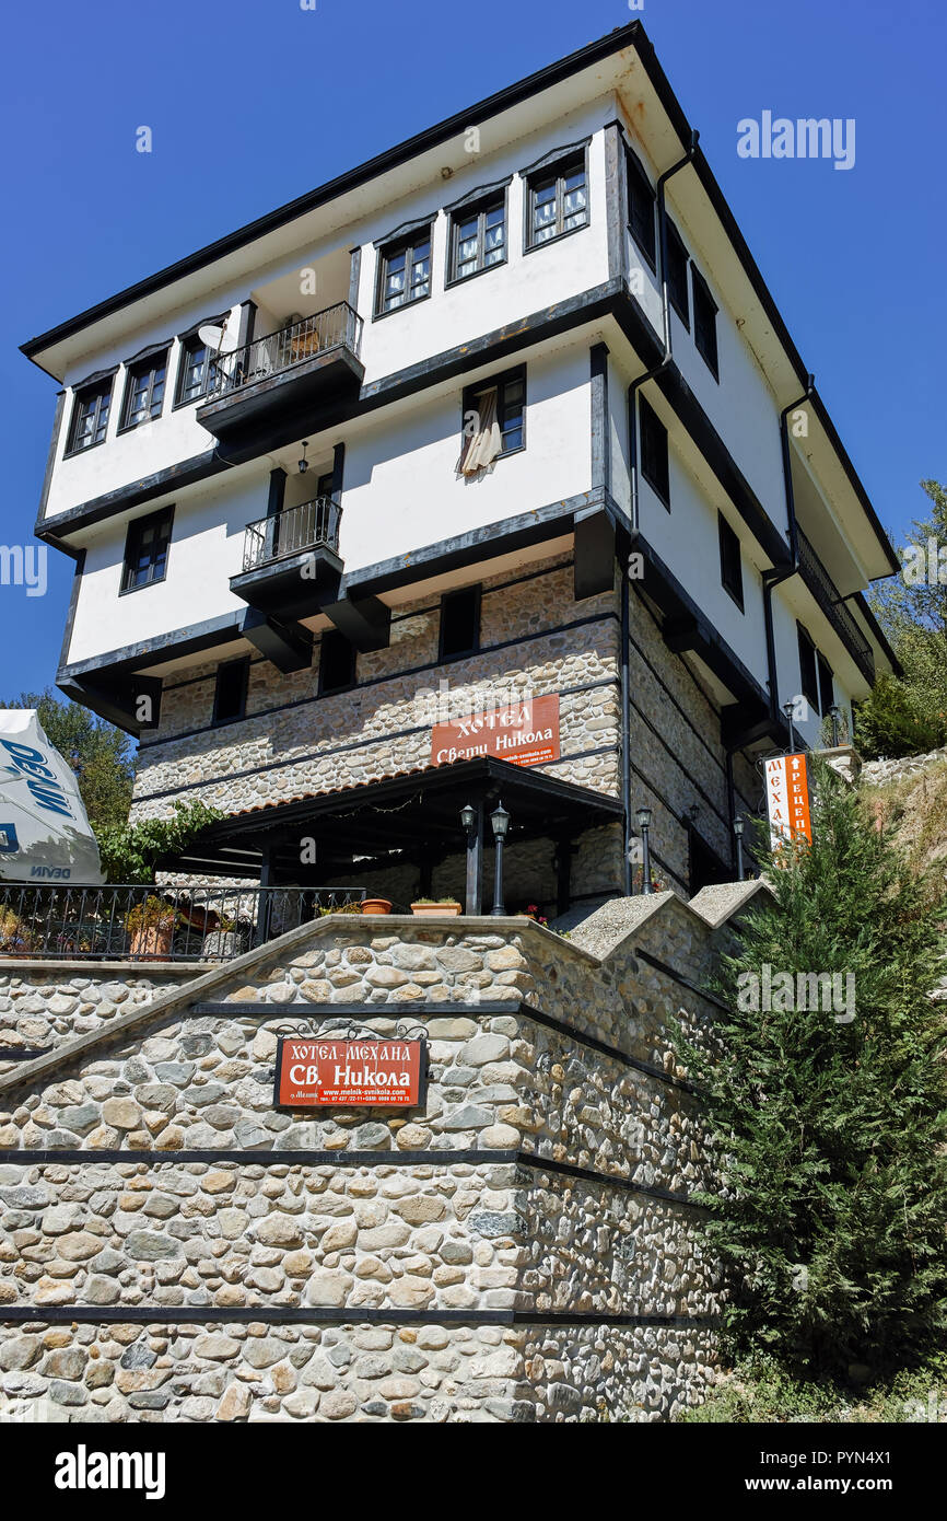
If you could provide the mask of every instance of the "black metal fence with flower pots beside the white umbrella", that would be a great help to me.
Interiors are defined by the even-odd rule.
[[[0,958],[230,961],[365,888],[29,887],[0,884]]]

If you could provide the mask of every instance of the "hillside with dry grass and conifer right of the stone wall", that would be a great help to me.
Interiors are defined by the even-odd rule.
[[[725,1156],[725,1370],[686,1419],[947,1421],[947,753],[815,773],[813,844],[769,858],[724,960],[719,1045],[681,1048]],[[853,1018],[743,1010],[765,966],[850,973]]]

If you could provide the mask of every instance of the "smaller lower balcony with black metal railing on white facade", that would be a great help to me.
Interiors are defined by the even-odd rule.
[[[319,496],[249,523],[243,569],[231,576],[231,590],[261,613],[312,616],[337,595],[340,520],[339,503]]]

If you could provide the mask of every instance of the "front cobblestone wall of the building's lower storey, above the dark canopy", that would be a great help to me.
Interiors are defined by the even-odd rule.
[[[465,660],[438,666],[439,604],[426,601],[398,610],[388,648],[357,657],[359,686],[351,692],[316,697],[318,651],[313,669],[293,675],[255,662],[248,716],[208,729],[216,668],[169,683],[161,727],[140,753],[132,817],[169,814],[176,792],[236,812],[426,767],[430,729],[441,716],[503,706],[503,695],[515,692],[561,695],[562,760],[547,768],[550,774],[614,795],[614,599],[575,602],[572,564],[561,560],[546,573],[514,586],[509,580],[483,583],[482,653]],[[575,622],[581,627],[562,630]],[[445,712],[439,703],[448,704]]]

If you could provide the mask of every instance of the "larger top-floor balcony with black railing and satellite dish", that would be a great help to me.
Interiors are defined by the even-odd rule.
[[[271,447],[298,437],[301,409],[357,392],[363,321],[348,301],[217,354],[198,421],[222,443]]]

